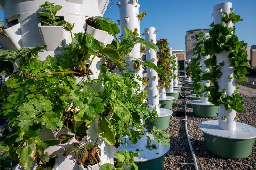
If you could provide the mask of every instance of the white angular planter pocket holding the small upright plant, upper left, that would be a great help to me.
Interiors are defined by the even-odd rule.
[[[67,47],[66,32],[62,26],[42,26],[38,24],[38,28],[44,45],[47,45],[46,51],[54,51],[54,54],[62,53]]]

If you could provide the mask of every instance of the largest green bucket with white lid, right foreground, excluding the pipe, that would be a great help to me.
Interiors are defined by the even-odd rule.
[[[236,122],[236,130],[222,130],[218,128],[218,120],[204,121],[198,127],[204,133],[206,148],[213,154],[228,159],[250,156],[256,128]]]

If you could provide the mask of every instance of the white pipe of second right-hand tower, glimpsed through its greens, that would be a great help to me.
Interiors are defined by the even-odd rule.
[[[202,39],[204,39],[204,38],[208,39],[208,38],[209,38],[209,33],[204,33],[203,37],[201,37],[200,40],[202,40]],[[199,46],[203,46],[203,44],[200,44]],[[205,57],[203,57],[203,56],[201,55],[201,58],[200,58],[200,66],[201,66],[201,71],[202,71],[202,72],[200,73],[200,76],[202,76],[205,72],[209,72],[209,69],[206,67],[206,65],[205,65],[205,63],[204,63],[204,61],[207,60],[207,59],[209,59],[209,58],[210,58],[210,55],[207,55],[207,56],[205,56]],[[207,86],[207,87],[210,86],[210,81],[207,81],[207,80],[203,80],[203,81],[201,81],[200,83],[201,83],[203,86]],[[201,92],[201,95],[202,95],[202,96],[200,97],[200,102],[201,102],[201,103],[210,103],[210,102],[208,102],[209,97],[204,96],[206,92],[202,92],[202,91],[203,91],[203,88],[200,89],[200,92]]]

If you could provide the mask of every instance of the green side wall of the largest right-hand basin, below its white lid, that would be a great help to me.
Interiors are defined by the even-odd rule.
[[[227,139],[204,133],[206,148],[213,154],[228,159],[243,159],[250,156],[254,139]]]

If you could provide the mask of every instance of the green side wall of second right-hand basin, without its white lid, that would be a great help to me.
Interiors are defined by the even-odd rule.
[[[218,113],[218,106],[212,106],[212,105],[197,105],[192,104],[193,113],[202,118],[211,118],[215,117],[216,113]]]

